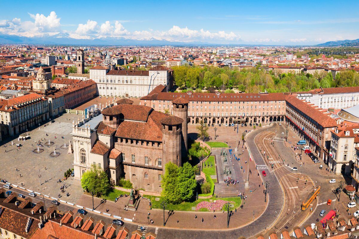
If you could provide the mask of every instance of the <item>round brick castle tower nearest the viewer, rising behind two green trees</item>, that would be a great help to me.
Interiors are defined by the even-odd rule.
[[[163,164],[172,162],[177,166],[182,166],[182,123],[183,120],[174,115],[168,115],[161,120]]]

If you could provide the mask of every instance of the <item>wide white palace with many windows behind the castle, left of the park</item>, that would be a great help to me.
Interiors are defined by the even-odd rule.
[[[97,83],[99,95],[142,97],[156,86],[173,88],[173,71],[167,67],[156,66],[148,71],[109,70],[107,67],[90,68],[90,79]]]

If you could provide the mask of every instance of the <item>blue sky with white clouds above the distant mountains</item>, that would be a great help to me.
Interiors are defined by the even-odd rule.
[[[359,1],[3,1],[0,33],[238,44],[359,38]]]

